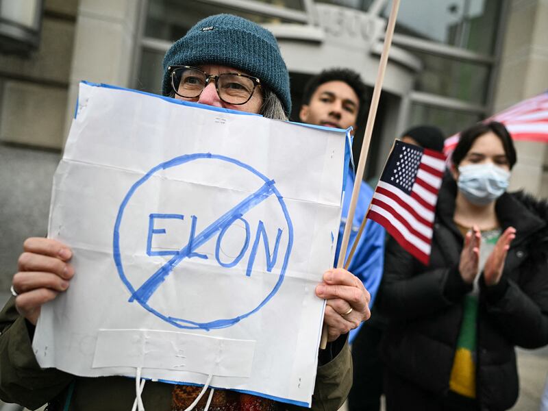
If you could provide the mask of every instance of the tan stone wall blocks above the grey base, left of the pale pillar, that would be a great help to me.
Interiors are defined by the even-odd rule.
[[[40,46],[0,53],[0,142],[61,149],[77,0],[47,0]]]

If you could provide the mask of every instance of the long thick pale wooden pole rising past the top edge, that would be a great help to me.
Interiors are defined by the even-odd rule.
[[[392,44],[392,37],[394,35],[394,27],[396,26],[396,16],[398,14],[399,0],[393,0],[392,10],[390,10],[390,17],[388,17],[388,25],[386,26],[386,34],[384,36],[384,45],[382,47],[381,60],[379,62],[379,71],[377,72],[377,79],[375,80],[375,88],[373,88],[373,97],[371,99],[371,106],[369,107],[369,114],[367,116],[367,123],[365,126],[364,141],[362,142],[362,151],[360,152],[360,161],[358,162],[358,170],[356,170],[356,180],[354,181],[354,187],[352,190],[352,197],[350,200],[350,208],[348,210],[347,223],[345,224],[345,232],[343,234],[343,240],[340,243],[340,252],[338,254],[337,268],[342,268],[345,264],[345,256],[347,255],[348,241],[350,238],[350,230],[354,219],[354,213],[356,212],[356,204],[358,203],[358,195],[360,195],[360,185],[364,178],[365,160],[369,153],[369,145],[371,143],[371,135],[373,134],[373,124],[375,123],[375,116],[377,116],[377,108],[379,106],[379,99],[382,90],[382,82],[384,81],[384,72],[386,71],[386,63],[388,62],[388,52],[390,51],[390,45]],[[327,347],[327,327],[323,327],[320,341],[320,348],[325,349]]]

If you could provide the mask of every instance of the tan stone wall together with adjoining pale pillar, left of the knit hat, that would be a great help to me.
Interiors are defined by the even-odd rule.
[[[0,53],[0,142],[61,149],[82,79],[130,86],[140,4],[46,0],[38,50]]]

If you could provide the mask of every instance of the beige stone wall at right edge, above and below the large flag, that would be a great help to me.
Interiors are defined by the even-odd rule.
[[[510,0],[494,112],[548,89],[548,0]],[[548,145],[516,142],[510,190],[548,197]]]

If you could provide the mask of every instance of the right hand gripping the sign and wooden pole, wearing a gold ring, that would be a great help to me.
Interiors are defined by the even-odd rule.
[[[371,316],[371,295],[360,279],[345,269],[326,271],[316,295],[327,300],[323,322],[327,325],[328,341],[357,328]]]

